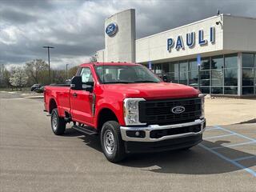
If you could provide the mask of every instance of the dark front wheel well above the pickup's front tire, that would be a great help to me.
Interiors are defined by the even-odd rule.
[[[103,124],[108,121],[118,122],[118,118],[114,114],[114,112],[110,109],[101,110],[101,112],[98,114],[98,126],[97,126],[98,131],[102,130]]]

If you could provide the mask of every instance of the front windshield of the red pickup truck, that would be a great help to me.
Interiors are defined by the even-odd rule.
[[[107,83],[161,82],[144,66],[96,66],[98,78]]]

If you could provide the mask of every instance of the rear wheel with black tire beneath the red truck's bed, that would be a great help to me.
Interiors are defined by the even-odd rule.
[[[58,116],[57,108],[52,110],[50,122],[51,122],[51,129],[53,130],[54,134],[56,135],[64,134],[66,130],[66,122],[64,118],[61,118]]]

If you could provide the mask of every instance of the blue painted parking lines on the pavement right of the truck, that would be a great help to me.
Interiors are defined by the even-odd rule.
[[[216,135],[213,137],[206,137],[204,139],[214,139],[214,138],[225,138],[225,137],[229,137],[229,136],[238,136],[239,138],[245,138],[247,140],[247,142],[240,142],[240,143],[235,143],[235,144],[230,144],[230,145],[226,145],[226,146],[215,146],[215,147],[209,147],[209,146],[205,146],[204,144],[200,143],[199,146],[201,146],[203,149],[208,150],[210,153],[217,155],[219,158],[222,158],[223,160],[225,160],[226,162],[230,162],[231,164],[233,164],[234,166],[237,166],[238,168],[245,170],[246,172],[252,174],[254,177],[256,177],[256,172],[254,170],[251,170],[250,168],[243,166],[241,163],[239,163],[242,160],[247,160],[247,159],[256,159],[256,154],[254,155],[248,155],[246,157],[240,157],[240,158],[228,158],[226,157],[226,155],[223,155],[221,153],[219,153],[218,149],[221,148],[225,148],[225,147],[231,147],[231,146],[244,146],[244,145],[255,145],[256,144],[256,139],[254,138],[249,138],[243,134],[238,134],[232,130],[227,130],[225,128],[223,128],[222,126],[214,126],[212,128],[206,128],[206,131],[210,131],[210,130],[223,130],[228,134],[221,134],[221,135]],[[249,141],[248,141],[249,140]],[[255,163],[256,165],[256,163]]]

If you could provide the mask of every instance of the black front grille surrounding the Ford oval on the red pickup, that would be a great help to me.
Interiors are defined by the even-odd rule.
[[[185,111],[174,114],[175,106],[183,106]],[[201,98],[182,98],[139,102],[139,121],[147,124],[168,125],[193,122],[202,115]]]

